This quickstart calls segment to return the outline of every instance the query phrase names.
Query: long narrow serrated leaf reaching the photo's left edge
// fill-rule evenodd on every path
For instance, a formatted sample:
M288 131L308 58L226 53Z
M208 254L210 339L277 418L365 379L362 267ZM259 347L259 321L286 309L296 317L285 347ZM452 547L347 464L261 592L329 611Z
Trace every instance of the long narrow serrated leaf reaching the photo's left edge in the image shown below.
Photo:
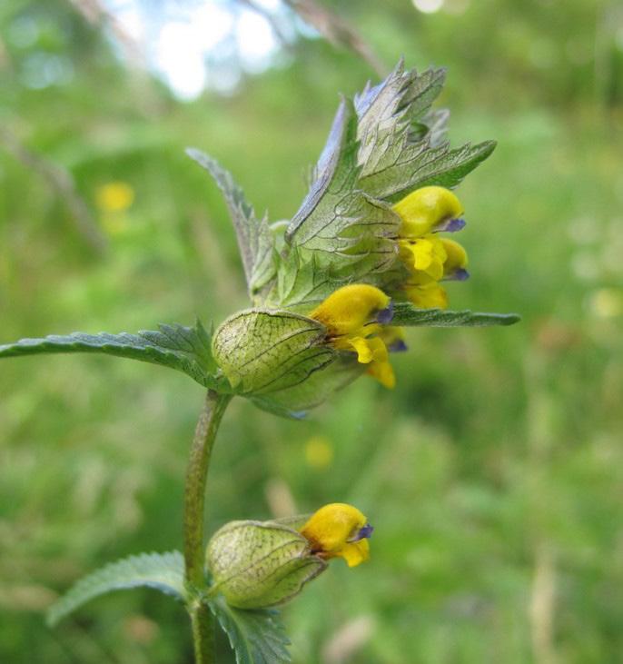
M0 345L0 358L59 352L99 352L161 364L186 373L204 387L219 390L223 387L214 375L217 366L212 356L210 334L199 321L194 327L178 323L159 325L157 332L73 332Z

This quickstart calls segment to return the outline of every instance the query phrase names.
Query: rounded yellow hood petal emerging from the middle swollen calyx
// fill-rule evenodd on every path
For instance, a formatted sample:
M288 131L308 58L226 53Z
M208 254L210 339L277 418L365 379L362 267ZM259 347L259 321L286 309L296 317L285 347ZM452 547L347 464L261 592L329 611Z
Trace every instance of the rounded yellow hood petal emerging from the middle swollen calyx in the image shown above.
M390 298L379 288L367 283L351 283L332 292L309 315L325 325L331 336L348 335L360 332L389 304Z

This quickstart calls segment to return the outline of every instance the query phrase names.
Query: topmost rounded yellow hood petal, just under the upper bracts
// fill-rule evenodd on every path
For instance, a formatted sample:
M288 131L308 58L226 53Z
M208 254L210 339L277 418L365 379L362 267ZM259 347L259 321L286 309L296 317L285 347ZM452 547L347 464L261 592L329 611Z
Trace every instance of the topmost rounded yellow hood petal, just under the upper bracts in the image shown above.
M443 187L422 187L393 206L401 217L401 237L421 237L440 223L460 217L463 206L457 196Z

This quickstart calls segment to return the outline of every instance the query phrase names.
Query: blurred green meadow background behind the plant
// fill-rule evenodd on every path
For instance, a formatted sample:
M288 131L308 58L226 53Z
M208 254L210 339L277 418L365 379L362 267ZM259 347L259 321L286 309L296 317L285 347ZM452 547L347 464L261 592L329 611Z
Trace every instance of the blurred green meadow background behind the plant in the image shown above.
M231 34L195 73L203 93L175 94L163 68L176 56L183 72L185 52L162 31L203 5L231 15ZM523 322L410 332L395 391L361 379L308 421L234 401L209 528L338 500L375 525L369 564L334 563L283 610L298 664L618 662L623 7L321 6L386 71L400 55L448 66L453 144L499 141L460 186L472 278L450 300ZM249 30L235 37L243 21L272 34L268 55ZM223 203L183 148L289 218L338 93L369 78L276 1L3 0L0 342L220 322L244 306ZM202 389L85 355L3 361L0 394L0 661L190 663L183 609L154 591L96 600L55 630L43 612L108 560L180 548Z

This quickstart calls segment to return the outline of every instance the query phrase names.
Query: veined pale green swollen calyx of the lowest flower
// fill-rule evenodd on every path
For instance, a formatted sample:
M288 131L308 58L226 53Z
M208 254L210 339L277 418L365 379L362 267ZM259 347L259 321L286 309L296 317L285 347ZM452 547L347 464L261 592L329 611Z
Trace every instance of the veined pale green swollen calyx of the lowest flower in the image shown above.
M326 569L299 532L276 521L232 521L206 553L213 588L232 607L261 609L292 599Z

